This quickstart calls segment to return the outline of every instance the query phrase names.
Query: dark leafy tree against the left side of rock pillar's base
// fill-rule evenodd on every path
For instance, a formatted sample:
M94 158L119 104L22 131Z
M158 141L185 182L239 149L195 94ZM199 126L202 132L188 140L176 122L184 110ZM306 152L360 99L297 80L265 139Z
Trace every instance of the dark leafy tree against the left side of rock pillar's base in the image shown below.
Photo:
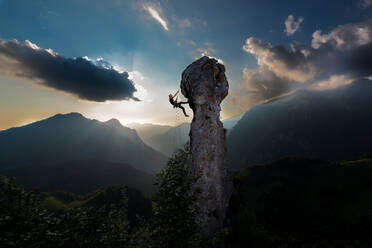
M196 190L187 177L187 149L178 150L158 174L152 237L157 247L198 247Z

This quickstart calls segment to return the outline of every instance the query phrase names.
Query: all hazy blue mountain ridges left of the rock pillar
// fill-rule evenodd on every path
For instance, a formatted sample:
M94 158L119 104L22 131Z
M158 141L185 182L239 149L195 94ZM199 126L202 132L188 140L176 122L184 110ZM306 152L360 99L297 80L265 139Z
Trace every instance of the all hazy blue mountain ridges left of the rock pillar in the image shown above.
M166 164L163 154L171 156L187 142L190 124L130 126L140 135L115 119L69 113L0 131L0 174L15 176L26 189L84 194L126 184L152 194L151 174Z

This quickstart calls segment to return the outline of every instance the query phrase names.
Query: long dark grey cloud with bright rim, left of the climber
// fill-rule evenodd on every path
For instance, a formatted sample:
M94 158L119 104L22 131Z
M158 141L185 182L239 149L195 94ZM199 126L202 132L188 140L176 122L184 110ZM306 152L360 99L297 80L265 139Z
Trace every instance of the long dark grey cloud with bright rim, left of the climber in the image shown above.
M28 40L0 39L0 74L27 79L82 100L139 100L133 95L136 88L128 73L115 70L102 58L65 58Z

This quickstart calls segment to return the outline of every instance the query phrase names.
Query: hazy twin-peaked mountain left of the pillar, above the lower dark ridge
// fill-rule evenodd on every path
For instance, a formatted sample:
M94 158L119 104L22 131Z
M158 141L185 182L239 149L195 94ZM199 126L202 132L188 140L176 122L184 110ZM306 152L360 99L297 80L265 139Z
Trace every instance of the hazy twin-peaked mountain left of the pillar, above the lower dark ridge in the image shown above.
M0 132L0 170L79 160L125 163L149 173L166 163L164 155L115 119L100 122L78 113L57 114Z

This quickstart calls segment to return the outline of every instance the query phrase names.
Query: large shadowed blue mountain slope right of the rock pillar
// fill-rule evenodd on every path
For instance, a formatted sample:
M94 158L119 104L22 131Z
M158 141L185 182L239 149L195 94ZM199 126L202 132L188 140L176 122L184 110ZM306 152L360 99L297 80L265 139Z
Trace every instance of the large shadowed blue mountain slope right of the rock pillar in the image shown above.
M326 160L372 151L372 82L302 90L247 111L228 136L231 167L285 156Z

